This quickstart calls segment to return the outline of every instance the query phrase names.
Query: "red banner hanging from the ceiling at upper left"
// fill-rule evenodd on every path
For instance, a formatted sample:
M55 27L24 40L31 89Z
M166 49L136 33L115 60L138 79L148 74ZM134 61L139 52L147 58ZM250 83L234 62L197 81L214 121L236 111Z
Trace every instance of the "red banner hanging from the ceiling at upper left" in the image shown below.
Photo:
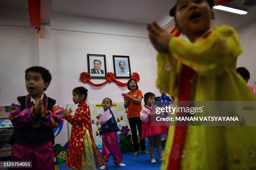
M41 0L28 0L28 12L30 24L37 29L39 34L41 29Z

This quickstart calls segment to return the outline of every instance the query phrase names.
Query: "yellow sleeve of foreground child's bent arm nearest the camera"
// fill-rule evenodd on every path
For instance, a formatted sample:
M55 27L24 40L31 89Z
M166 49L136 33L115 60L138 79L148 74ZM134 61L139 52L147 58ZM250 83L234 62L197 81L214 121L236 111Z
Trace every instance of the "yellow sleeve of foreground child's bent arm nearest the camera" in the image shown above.
M198 75L214 77L241 54L242 48L236 30L223 25L213 28L207 38L196 43L173 37L169 51L178 62L192 68Z

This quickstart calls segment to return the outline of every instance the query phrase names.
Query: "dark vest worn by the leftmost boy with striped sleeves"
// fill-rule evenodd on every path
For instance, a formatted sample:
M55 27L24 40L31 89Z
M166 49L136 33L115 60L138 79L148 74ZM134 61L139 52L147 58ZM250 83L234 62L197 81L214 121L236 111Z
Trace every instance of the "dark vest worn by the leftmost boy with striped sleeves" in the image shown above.
M17 100L21 104L20 111L27 108L27 96L20 96L17 98ZM46 101L46 110L51 110L52 107L55 105L56 100L47 97ZM11 136L9 143L12 145L15 143L15 141L23 143L42 143L51 140L54 144L55 136L53 130L44 125L43 123L41 123L40 127L33 128L32 122L23 127L14 128L13 135Z

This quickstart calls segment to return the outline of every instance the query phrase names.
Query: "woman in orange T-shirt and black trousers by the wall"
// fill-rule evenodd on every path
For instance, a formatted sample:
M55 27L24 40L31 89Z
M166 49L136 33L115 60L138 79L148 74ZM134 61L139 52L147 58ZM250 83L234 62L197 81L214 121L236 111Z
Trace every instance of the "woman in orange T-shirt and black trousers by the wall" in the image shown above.
M135 150L134 156L138 155L138 138L137 138L137 127L138 133L141 139L141 118L140 118L140 111L142 110L141 107L141 100L143 98L143 94L141 90L138 90L138 85L136 80L130 79L127 82L127 88L130 90L128 93L122 93L124 97L124 107L127 109L127 118L131 127L131 133L133 138L133 147ZM137 125L137 127L136 127ZM145 139L140 140L141 143L141 150L142 153L149 153L146 151L145 147Z

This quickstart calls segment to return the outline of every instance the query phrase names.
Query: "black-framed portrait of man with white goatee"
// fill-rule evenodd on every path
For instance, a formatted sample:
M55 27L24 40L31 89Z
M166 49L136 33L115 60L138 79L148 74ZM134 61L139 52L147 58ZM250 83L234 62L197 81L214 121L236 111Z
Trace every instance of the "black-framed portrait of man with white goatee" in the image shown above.
M113 65L116 78L131 78L129 56L113 55Z

